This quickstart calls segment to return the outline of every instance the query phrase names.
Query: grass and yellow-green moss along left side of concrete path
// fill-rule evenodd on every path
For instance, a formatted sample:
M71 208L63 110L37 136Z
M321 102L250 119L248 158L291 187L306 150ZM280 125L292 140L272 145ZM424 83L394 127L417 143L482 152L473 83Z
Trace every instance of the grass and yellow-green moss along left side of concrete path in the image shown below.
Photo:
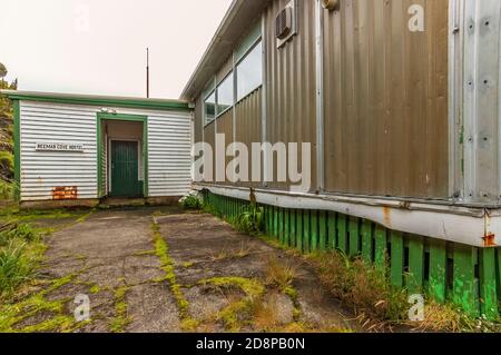
M16 332L72 332L84 326L72 315L66 315L66 304L71 299L48 300L47 295L72 283L78 274L50 282L37 279L37 269L43 260L47 246L45 237L86 220L92 211L37 210L9 208L0 211L6 221L0 236L0 333ZM78 218L77 218L78 217ZM28 223L47 219L71 219L58 228L32 227ZM45 287L40 290L40 287ZM22 323L47 313L51 316L35 325Z

